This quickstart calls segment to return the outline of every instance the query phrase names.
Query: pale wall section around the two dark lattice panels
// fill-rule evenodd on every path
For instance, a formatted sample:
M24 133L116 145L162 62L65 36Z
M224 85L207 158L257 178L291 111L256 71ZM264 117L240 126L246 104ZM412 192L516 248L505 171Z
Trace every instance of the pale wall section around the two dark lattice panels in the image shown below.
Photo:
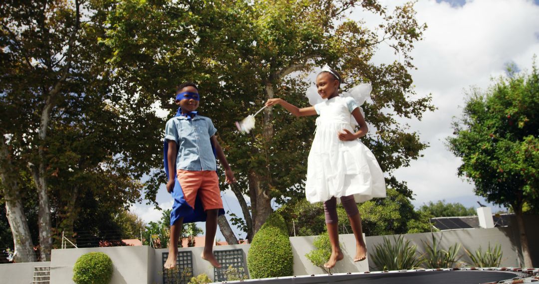
M249 251L250 247L251 247L250 244L214 246L213 251L236 250L237 248L240 248L241 250L243 250L243 253L244 253L243 258L245 261L244 269L248 275L247 252ZM210 277L210 279L213 280L213 266L211 266L210 262L205 261L200 257L203 250L204 250L204 247L178 248L179 252L182 252L182 251L192 252L194 276L198 274L206 273ZM153 262L150 264L154 276L153 276L152 282L149 282L149 283L163 284L163 260L162 260L163 252L168 252L168 248L157 248L154 252Z

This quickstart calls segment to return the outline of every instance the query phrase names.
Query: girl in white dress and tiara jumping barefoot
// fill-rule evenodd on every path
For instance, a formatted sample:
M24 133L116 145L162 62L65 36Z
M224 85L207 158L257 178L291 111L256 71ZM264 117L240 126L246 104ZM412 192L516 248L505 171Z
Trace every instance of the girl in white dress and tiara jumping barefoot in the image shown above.
M341 76L333 69L324 68L316 77L316 87L325 101L301 109L281 98L266 102L266 106L280 104L295 116L319 115L307 163L305 195L311 203L324 203L331 243L331 257L324 264L326 268L334 267L343 259L338 245L337 197L348 214L356 238L354 261L367 258L356 202L385 197L382 169L372 152L358 139L367 134L367 124L354 98L339 96L340 84ZM360 126L357 131L350 125L350 114Z

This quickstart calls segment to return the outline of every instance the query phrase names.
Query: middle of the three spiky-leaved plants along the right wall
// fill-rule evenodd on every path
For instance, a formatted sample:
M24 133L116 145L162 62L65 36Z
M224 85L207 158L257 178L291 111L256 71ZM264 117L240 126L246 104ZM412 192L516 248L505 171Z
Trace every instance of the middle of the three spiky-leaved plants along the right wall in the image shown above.
M460 255L457 255L460 250L460 244L455 243L448 250L441 250L439 245L443 235L438 240L432 234L432 242L427 243L421 240L425 248L425 267L426 268L452 268L459 261Z

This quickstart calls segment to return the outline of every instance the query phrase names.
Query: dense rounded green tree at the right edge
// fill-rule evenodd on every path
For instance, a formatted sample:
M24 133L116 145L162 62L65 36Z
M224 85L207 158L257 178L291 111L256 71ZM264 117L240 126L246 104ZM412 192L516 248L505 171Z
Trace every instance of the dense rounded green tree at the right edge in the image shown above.
M522 221L525 204L539 204L539 73L508 69L485 93L473 89L462 117L453 123L447 146L462 159L459 176L473 182L476 195L513 209L524 265L532 267Z

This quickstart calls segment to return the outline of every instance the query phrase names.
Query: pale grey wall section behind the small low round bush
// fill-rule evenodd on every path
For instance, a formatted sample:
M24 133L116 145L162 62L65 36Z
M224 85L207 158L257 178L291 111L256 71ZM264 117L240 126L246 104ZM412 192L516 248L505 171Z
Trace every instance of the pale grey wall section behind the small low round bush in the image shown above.
M68 248L52 250L51 283L74 283L72 279L75 261L88 252L103 252L112 259L113 284L151 283L154 278L150 269L155 261L154 249L149 246Z

